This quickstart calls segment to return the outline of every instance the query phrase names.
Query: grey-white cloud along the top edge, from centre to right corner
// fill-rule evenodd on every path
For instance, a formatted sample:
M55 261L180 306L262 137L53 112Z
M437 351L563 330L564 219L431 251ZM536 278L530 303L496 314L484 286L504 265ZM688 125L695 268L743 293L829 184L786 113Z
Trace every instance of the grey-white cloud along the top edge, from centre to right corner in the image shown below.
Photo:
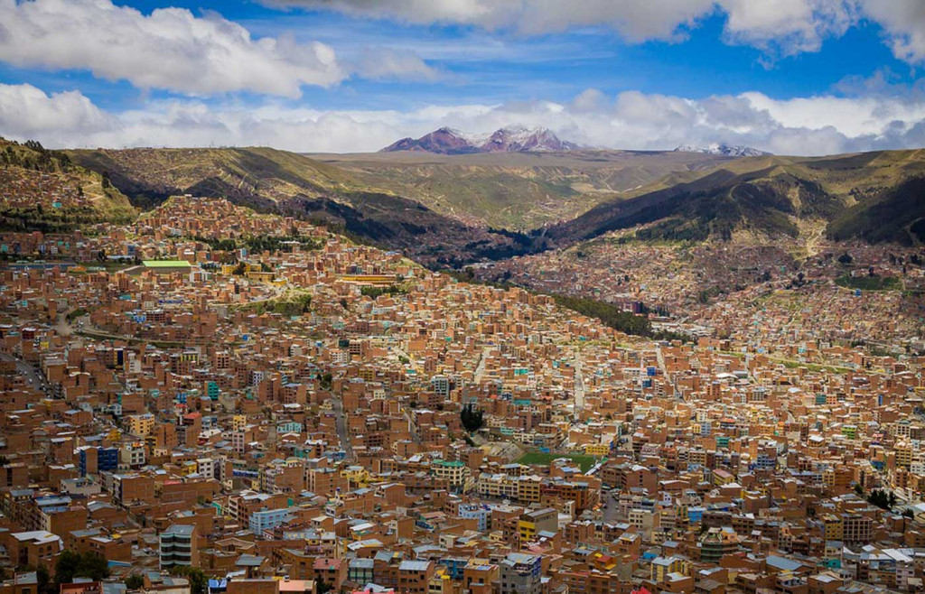
M727 42L759 47L771 57L815 52L830 37L867 18L880 24L897 58L925 62L921 0L264 0L269 6L335 10L413 24L458 23L524 35L603 26L629 42L676 41L721 11Z

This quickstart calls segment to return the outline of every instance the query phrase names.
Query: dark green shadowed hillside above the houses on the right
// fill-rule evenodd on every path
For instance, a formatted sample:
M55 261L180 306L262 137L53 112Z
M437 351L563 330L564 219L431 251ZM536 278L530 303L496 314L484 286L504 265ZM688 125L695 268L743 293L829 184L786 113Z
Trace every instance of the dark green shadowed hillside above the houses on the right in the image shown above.
M543 235L556 246L636 225L646 225L635 232L644 240L728 239L735 231L796 237L801 222L815 221L835 238L908 243L925 216L921 176L922 151L746 158L604 202Z

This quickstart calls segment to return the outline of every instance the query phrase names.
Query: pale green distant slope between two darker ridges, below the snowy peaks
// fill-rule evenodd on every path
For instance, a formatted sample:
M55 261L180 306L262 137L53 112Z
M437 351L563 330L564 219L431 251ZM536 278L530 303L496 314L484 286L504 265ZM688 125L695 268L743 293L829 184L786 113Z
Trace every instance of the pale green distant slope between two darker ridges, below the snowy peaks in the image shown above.
M635 196L667 175L697 177L728 158L692 152L430 152L316 154L371 188L470 224L525 230Z

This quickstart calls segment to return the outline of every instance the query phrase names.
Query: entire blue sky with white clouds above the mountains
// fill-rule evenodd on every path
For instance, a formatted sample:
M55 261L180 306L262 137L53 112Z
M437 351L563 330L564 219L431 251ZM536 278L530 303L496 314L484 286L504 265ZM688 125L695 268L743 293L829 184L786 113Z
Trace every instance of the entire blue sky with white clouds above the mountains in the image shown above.
M0 136L372 152L925 146L923 0L0 0Z

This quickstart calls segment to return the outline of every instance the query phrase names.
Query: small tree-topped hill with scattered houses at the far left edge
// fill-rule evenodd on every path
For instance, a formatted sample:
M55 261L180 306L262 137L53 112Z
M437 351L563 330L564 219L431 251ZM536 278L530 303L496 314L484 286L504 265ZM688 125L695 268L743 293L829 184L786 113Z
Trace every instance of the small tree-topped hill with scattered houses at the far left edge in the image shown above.
M38 142L0 139L0 229L61 232L134 218L129 200L105 176Z

